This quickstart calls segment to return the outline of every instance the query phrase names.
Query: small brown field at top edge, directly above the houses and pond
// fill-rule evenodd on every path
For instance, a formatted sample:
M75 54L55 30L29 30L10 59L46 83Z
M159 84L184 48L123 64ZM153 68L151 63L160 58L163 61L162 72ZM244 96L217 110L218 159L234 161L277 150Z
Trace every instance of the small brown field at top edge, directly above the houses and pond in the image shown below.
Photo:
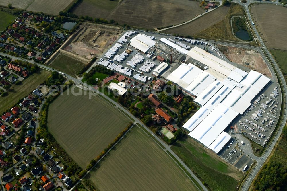
M63 11L72 1L73 0L34 0L26 10L58 15L59 12Z

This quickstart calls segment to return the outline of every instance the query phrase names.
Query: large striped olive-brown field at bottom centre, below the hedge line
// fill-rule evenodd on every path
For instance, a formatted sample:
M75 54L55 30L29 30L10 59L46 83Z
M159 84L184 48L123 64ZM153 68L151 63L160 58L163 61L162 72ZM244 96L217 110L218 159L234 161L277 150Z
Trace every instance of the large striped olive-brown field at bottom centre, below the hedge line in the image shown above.
M197 190L172 158L138 126L89 176L97 190Z

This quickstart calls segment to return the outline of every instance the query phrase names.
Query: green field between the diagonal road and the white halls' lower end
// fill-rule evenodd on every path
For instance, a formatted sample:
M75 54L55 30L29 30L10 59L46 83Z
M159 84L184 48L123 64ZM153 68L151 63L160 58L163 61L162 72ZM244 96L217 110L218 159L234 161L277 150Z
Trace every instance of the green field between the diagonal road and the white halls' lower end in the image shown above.
M204 181L210 190L235 190L243 174L189 137L171 146L172 151ZM218 181L224 180L224 181Z

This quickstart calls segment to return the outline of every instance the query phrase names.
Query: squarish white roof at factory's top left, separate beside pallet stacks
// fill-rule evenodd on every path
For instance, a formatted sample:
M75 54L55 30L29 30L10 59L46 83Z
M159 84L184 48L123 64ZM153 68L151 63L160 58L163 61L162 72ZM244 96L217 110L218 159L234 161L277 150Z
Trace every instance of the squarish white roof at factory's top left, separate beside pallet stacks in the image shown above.
M156 42L143 34L138 34L131 39L130 45L139 49L142 52L148 51Z

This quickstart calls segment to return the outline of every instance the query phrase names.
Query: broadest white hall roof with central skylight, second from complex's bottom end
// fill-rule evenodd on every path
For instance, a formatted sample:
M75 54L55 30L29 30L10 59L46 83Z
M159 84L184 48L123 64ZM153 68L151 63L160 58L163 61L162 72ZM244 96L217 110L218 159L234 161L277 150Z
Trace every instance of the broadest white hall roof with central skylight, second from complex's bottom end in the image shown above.
M189 133L189 136L209 147L237 115L237 112L220 103Z

